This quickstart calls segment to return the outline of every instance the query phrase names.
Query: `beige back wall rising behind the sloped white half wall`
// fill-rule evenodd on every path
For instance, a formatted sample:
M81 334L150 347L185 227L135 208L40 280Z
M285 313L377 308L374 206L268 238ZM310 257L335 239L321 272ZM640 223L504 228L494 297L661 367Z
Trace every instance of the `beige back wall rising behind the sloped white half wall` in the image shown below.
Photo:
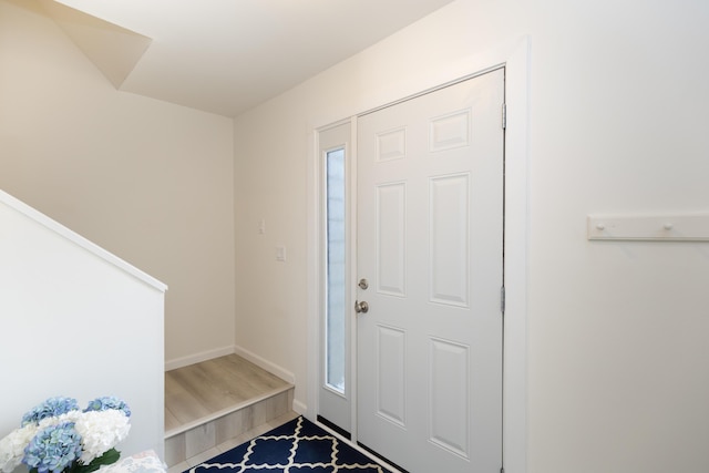
M233 121L117 92L33 4L0 1L0 188L169 286L167 361L232 349Z

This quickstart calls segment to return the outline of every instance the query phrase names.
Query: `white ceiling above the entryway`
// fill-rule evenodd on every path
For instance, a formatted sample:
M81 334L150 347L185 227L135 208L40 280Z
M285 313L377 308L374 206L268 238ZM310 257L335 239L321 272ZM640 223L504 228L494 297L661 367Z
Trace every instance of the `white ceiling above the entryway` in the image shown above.
M138 52L116 81L85 48L96 44L92 33L84 40L121 90L236 116L452 0L55 1L145 41L125 47Z

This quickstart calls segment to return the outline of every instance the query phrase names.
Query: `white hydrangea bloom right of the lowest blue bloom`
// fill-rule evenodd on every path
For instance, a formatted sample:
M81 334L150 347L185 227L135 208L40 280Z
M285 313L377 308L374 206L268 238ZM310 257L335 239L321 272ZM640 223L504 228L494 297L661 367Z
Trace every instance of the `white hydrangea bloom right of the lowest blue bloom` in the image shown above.
M81 435L81 462L91 463L123 441L131 430L130 419L115 409L83 412L74 429Z

